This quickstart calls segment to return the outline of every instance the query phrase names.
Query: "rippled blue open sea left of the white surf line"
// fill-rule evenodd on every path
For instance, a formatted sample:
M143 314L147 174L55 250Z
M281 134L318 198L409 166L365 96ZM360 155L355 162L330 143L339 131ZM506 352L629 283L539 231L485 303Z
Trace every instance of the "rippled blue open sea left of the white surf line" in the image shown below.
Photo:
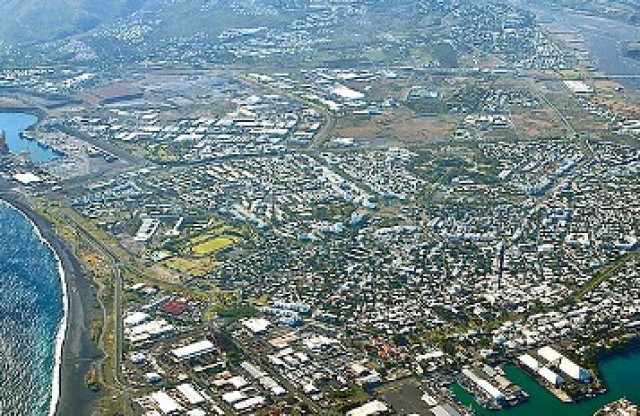
M0 201L0 415L47 415L62 296L54 253Z

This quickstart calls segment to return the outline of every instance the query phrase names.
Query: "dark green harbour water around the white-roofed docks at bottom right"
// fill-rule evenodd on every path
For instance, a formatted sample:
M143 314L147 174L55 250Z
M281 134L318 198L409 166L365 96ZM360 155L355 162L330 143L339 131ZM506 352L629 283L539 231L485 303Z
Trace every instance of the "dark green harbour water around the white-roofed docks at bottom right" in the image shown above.
M606 394L578 404L562 403L538 382L514 365L506 365L509 380L529 394L529 401L511 409L491 411L479 406L473 397L457 384L451 389L460 402L471 405L482 416L591 416L605 404L627 397L640 403L640 353L619 355L600 363L600 372L608 387Z

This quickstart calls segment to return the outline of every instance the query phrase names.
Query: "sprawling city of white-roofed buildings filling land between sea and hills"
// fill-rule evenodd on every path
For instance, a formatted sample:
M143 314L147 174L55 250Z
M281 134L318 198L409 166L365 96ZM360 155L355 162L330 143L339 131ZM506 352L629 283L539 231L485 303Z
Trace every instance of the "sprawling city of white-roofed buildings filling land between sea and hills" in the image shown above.
M188 3L158 12L197 3L181 35L0 43L0 108L52 154L3 133L0 187L92 278L95 414L470 415L451 386L529 400L505 366L606 391L638 348L640 73L521 2Z

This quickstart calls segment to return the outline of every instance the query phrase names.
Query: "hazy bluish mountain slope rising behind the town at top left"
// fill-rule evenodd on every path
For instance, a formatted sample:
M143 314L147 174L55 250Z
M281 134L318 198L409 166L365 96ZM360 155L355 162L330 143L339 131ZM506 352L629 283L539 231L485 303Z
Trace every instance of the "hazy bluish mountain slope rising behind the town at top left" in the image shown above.
M308 0L4 0L0 44L50 42L140 24L155 24L154 35L189 37L286 23L287 10L301 4Z

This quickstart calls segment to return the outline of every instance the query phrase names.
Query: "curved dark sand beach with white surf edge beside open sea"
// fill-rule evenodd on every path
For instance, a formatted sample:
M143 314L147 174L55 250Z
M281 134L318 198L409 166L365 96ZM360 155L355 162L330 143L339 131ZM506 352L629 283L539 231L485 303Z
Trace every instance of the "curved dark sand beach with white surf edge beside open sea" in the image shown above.
M95 314L87 305L92 295L92 285L70 247L56 234L46 218L3 186L0 186L0 203L16 209L29 221L58 263L63 316L56 333L47 416L90 414L99 394L87 388L85 375L102 356L102 352L89 339L89 325Z

